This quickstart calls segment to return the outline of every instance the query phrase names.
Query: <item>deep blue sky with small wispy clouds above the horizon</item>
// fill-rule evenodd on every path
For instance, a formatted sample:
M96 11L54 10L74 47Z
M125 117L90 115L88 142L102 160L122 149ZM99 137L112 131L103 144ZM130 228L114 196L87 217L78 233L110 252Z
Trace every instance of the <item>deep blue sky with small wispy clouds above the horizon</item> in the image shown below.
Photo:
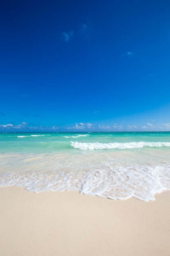
M170 131L170 1L2 1L0 132L29 131Z

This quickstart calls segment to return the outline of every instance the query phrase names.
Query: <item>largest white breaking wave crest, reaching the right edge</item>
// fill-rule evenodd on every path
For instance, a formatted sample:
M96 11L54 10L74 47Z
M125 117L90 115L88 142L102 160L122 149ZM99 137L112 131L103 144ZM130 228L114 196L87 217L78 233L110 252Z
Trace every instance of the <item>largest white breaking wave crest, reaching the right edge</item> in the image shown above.
M93 150L93 149L126 149L126 148L143 148L143 147L170 147L170 142L124 142L124 143L87 143L87 142L77 142L71 141L71 146L73 148L78 148L80 150Z

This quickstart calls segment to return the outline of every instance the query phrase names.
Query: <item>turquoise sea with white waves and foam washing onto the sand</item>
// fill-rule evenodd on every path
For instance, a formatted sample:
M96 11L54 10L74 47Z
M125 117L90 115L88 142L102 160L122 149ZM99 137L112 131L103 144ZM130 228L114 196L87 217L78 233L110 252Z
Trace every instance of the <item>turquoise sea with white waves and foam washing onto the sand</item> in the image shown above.
M0 133L0 186L155 200L170 190L170 132Z

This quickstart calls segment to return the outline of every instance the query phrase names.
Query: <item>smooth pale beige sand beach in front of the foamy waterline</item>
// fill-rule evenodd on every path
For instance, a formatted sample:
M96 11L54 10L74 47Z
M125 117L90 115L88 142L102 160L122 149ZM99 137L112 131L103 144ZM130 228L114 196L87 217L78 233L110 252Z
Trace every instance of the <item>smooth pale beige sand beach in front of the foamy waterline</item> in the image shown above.
M170 191L156 200L0 188L2 256L170 255Z

